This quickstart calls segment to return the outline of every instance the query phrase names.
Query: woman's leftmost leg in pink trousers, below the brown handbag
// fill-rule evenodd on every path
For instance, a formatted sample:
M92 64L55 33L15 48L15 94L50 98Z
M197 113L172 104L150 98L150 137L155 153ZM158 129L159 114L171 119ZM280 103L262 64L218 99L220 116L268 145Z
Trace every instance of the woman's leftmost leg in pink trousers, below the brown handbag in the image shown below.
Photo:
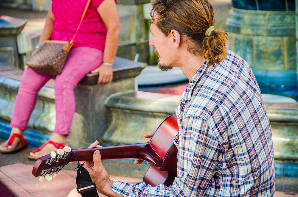
M40 75L31 68L24 71L10 122L10 126L13 127L11 134L17 133L24 137L23 131L26 130L30 115L35 107L37 92L51 77L50 75ZM1 150L15 148L20 139L15 137L13 143L8 147L5 146L7 142L0 145Z

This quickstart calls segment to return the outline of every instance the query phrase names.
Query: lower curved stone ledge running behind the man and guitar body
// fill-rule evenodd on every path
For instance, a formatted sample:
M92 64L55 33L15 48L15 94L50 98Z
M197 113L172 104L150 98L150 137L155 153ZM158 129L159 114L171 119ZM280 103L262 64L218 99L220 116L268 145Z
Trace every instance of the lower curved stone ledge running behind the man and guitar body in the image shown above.
M103 140L109 144L139 143L143 134L175 113L179 95L128 91L109 96L105 106L111 123ZM273 135L274 158L298 160L298 103L265 103Z

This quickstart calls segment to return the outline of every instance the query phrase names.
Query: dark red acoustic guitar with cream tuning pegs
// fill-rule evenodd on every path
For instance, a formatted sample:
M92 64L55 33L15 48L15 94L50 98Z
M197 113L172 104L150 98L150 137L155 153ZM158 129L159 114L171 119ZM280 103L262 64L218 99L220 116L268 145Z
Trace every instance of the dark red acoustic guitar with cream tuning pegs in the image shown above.
M149 143L73 150L64 147L64 150L58 149L40 157L33 166L32 174L42 176L40 181L51 180L69 162L91 161L94 151L100 150L102 160L133 158L150 162L143 181L152 186L170 186L177 176L177 148L173 140L178 131L177 116L171 115L159 125Z

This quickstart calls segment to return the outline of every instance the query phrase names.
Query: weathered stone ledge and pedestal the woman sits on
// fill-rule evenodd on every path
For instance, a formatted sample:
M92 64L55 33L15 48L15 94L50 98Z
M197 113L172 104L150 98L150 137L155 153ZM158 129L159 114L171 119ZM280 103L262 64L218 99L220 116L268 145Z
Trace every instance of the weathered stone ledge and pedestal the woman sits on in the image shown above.
M111 85L97 85L98 74L85 77L86 83L81 82L75 88L76 111L72 122L71 134L68 138L70 146L86 147L94 140L102 142L102 135L109 123L109 113L104 107L105 99L116 92L137 90L136 76L146 64L123 58L116 58L113 69L115 79ZM23 70L12 66L0 67L0 119L10 122L15 98L20 85ZM27 140L32 144L42 144L48 140L55 126L55 93L54 79L50 79L38 92L35 109L28 123ZM7 130L7 129L6 129ZM40 136L35 137L34 132ZM1 131L1 135L7 135ZM1 136L0 135L0 136Z

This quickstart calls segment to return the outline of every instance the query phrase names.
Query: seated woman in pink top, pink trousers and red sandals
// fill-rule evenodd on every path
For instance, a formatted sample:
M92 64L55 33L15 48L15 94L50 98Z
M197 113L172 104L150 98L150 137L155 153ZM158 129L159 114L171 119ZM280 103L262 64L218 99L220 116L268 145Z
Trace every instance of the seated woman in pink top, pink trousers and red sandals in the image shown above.
M52 0L39 44L49 35L52 40L70 41L86 3L87 0ZM55 79L55 129L47 143L28 155L30 159L37 160L67 145L66 138L75 113L74 88L86 74L98 72L98 84L111 84L119 30L116 0L91 0L63 71ZM12 130L8 140L0 145L1 153L16 152L27 145L24 131L35 107L37 92L52 77L37 74L31 68L25 69L10 123Z

